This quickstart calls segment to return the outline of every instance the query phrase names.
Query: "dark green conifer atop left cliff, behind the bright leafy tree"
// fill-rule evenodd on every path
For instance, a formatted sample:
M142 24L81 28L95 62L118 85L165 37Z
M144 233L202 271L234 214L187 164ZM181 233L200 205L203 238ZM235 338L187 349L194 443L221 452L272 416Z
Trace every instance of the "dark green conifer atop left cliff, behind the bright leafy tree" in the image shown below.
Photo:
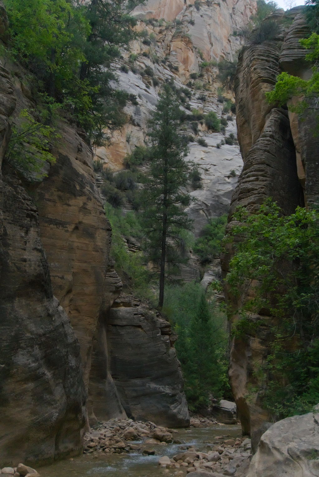
M120 57L120 50L128 48L135 37L136 20L129 15L129 10L137 3L91 0L86 4L85 19L90 25L90 33L83 47L85 61L81 64L79 79L88 85L92 98L91 114L82 118L82 123L91 131L95 144L109 139L127 120L122 109L128 94L114 88L112 82L117 82L115 61ZM81 105L74 104L74 111L81 118Z

